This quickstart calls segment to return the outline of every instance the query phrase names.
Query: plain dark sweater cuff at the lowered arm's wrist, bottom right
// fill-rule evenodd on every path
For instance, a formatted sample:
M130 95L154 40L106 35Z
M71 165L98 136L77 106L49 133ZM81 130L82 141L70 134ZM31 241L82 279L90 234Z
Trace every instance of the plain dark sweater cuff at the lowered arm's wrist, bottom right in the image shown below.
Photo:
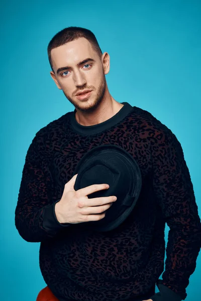
M150 297L153 301L181 301L181 296L163 284L157 284L159 292Z

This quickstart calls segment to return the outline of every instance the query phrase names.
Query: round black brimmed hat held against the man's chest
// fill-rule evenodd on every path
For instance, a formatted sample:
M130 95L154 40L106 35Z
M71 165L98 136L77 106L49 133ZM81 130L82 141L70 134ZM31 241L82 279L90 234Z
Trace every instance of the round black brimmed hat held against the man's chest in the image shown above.
M76 174L75 191L93 184L110 185L109 189L89 194L89 199L117 197L117 201L105 211L104 218L86 224L103 232L122 224L135 207L142 186L140 168L134 158L118 145L95 146L81 158L73 176Z

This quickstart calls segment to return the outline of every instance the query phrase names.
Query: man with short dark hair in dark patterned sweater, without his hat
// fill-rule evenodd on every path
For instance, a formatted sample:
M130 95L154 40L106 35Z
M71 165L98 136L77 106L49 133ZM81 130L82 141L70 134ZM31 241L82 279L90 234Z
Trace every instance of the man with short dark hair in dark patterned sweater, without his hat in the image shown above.
M36 133L23 169L16 227L25 240L41 242L47 286L37 300L185 299L201 224L179 141L149 112L111 96L105 77L110 57L91 31L60 31L48 45L48 57L51 77L75 110ZM107 183L75 191L77 175L72 177L82 156L100 143L127 150L142 174L137 206L119 227L103 233L85 225L103 219L114 196L87 195L107 189ZM158 279L165 222L167 259Z

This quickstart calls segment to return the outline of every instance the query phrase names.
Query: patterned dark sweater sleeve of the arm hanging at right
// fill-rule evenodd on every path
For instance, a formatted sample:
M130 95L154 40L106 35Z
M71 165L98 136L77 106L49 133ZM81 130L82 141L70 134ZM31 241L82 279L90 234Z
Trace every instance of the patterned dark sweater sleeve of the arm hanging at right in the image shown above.
M150 141L153 189L169 227L165 270L157 285L165 285L185 299L185 288L201 246L201 224L193 186L176 136L171 131L159 132Z

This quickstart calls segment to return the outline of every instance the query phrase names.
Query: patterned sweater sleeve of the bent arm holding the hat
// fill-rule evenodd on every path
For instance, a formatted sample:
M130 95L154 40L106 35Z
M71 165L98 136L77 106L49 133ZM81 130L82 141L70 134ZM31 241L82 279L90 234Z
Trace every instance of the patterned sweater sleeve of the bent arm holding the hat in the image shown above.
M22 172L21 185L15 210L15 224L19 234L29 242L41 242L54 237L61 224L55 215L52 199L52 177L45 158L43 137L39 132L30 144Z

